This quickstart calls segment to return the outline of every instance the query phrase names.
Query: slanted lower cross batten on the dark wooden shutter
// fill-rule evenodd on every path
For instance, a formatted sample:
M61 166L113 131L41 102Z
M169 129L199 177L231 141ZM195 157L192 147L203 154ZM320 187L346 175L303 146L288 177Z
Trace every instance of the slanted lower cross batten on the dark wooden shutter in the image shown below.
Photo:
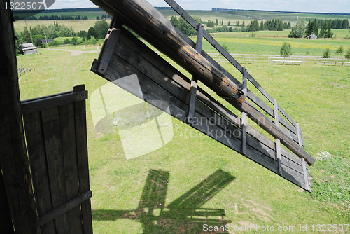
M69 200L69 202L66 202L63 205L60 205L59 207L53 209L51 212L44 214L43 216L39 217L40 226L45 225L45 223L48 223L53 219L57 219L57 217L66 212L69 212L76 207L79 208L80 203L84 202L85 200L89 200L91 197L92 191L86 191L85 193L78 195L76 198Z

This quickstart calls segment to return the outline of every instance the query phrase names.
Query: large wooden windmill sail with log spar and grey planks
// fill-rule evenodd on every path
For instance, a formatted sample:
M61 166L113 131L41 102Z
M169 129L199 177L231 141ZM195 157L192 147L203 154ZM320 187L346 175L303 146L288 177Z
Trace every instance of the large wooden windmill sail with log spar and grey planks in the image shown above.
M311 192L308 165L313 165L315 160L302 148L304 139L299 125L279 106L276 99L273 99L251 74L175 1L166 0L197 29L197 43L174 27L145 0L92 1L113 16L102 52L92 64L92 71L109 81L116 81L125 76L137 76L146 102L159 109L163 107L158 106L159 102L153 101L166 102L175 118ZM125 27L132 29L190 72L191 80ZM202 50L202 37L241 72L241 82ZM204 83L241 111L241 118L200 88L197 81ZM248 81L264 95L267 102L274 105L274 109L248 90ZM120 86L134 92L130 85ZM247 118L251 118L272 135L275 141L248 125ZM288 150L281 147L281 144Z

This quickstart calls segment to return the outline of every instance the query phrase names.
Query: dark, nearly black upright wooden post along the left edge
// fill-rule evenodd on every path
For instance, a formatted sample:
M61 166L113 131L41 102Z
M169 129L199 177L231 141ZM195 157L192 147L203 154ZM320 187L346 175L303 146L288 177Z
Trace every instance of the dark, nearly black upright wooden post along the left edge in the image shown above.
M16 233L40 233L20 113L13 16L6 3L0 1L0 184L5 188L1 189L1 207L5 208L1 212L6 215L0 232L13 233L15 228Z

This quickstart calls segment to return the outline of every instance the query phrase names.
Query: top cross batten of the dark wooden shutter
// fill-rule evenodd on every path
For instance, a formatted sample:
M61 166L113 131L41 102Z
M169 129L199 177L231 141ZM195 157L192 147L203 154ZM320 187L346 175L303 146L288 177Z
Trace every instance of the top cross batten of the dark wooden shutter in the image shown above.
M64 104L78 102L85 99L87 99L86 90L81 92L62 92L57 95L28 99L21 102L22 114L30 113L33 111L40 111L42 109L51 108L54 106L61 106Z

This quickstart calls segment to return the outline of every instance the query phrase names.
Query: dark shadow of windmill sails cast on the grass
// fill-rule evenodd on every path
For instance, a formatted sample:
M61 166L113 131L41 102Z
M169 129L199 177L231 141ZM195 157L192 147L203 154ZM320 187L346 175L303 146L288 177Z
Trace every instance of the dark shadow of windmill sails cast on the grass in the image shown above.
M169 172L150 170L142 192L139 207L135 210L97 209L94 220L131 219L142 223L143 233L215 233L203 230L203 225L223 227L224 209L201 208L235 177L217 170L190 191L165 206ZM228 233L223 228L220 233Z

